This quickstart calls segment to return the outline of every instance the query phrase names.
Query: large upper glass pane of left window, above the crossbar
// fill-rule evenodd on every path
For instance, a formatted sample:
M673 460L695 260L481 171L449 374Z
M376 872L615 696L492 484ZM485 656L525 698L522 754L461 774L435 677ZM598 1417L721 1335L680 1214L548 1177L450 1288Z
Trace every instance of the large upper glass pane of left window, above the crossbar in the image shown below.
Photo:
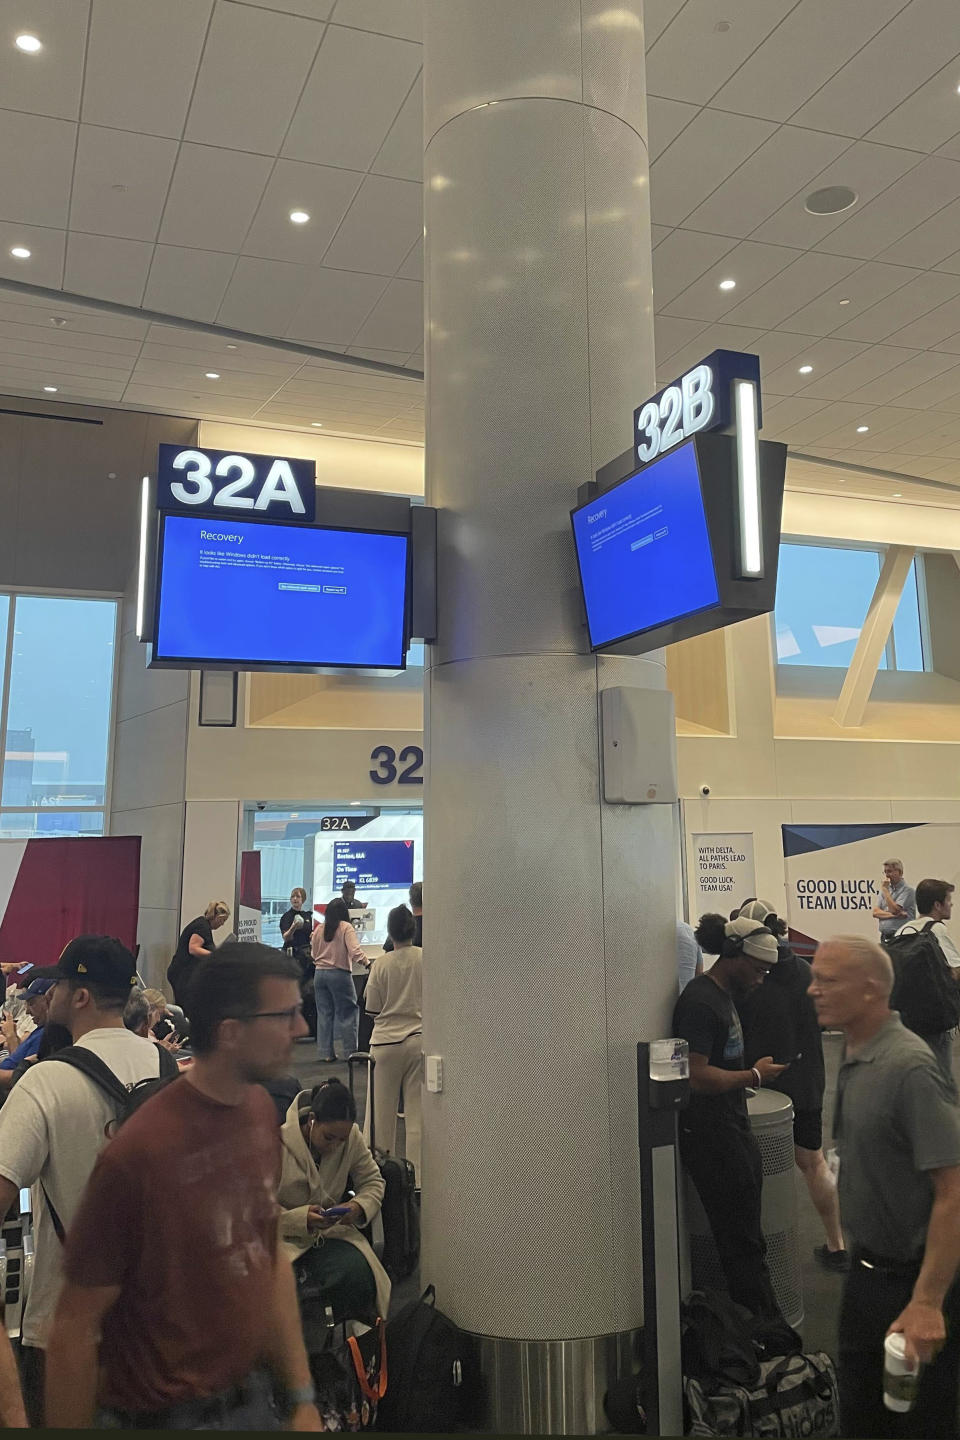
M17 598L4 805L102 805L115 600Z

